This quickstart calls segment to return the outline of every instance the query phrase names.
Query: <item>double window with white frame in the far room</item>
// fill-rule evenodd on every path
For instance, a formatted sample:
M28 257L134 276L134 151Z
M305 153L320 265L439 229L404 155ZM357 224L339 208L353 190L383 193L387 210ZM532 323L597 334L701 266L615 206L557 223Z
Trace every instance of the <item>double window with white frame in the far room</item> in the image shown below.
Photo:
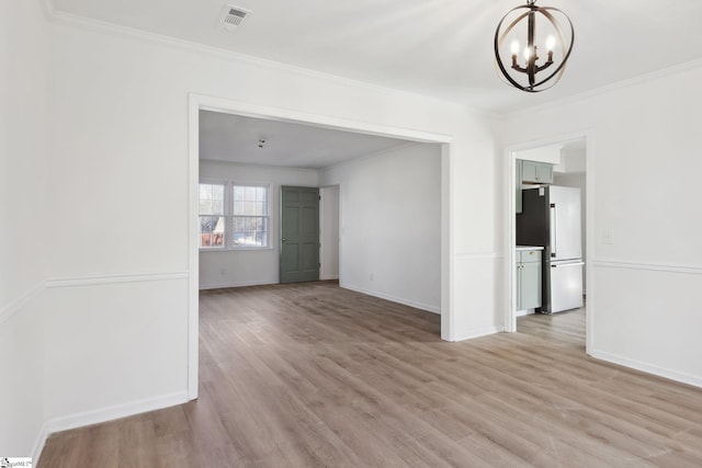
M231 182L200 184L200 248L269 246L269 187Z

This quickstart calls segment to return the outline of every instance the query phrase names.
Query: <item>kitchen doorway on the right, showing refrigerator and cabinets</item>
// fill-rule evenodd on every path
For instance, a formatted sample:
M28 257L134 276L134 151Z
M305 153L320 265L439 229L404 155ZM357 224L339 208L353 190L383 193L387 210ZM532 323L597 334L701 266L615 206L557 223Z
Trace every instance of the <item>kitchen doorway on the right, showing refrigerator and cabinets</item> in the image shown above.
M508 148L506 219L505 331L516 332L521 316L584 312L587 297L586 352L595 315L589 140L578 134Z

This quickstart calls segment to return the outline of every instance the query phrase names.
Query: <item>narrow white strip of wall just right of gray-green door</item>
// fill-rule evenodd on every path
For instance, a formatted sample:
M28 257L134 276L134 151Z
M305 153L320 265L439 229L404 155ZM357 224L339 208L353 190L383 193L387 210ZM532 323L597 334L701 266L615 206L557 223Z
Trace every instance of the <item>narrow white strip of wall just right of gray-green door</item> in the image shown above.
M326 186L319 189L321 196L319 243L320 279L339 279L339 186Z

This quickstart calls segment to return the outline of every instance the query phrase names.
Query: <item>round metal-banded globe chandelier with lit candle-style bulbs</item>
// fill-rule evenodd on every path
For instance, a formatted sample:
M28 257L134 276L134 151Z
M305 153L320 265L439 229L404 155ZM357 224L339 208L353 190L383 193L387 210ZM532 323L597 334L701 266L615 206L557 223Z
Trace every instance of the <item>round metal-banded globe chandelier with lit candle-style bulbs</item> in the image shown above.
M534 3L526 0L525 5L510 10L495 31L495 60L501 76L526 92L547 90L561 80L575 38L564 12ZM546 50L544 60L539 56L541 47Z

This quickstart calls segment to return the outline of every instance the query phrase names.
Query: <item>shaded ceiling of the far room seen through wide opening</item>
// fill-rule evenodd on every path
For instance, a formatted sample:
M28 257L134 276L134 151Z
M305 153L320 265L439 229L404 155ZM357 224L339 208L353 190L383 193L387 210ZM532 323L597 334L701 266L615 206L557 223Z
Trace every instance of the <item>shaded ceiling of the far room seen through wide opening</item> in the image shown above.
M322 169L407 144L404 139L200 111L200 159Z

